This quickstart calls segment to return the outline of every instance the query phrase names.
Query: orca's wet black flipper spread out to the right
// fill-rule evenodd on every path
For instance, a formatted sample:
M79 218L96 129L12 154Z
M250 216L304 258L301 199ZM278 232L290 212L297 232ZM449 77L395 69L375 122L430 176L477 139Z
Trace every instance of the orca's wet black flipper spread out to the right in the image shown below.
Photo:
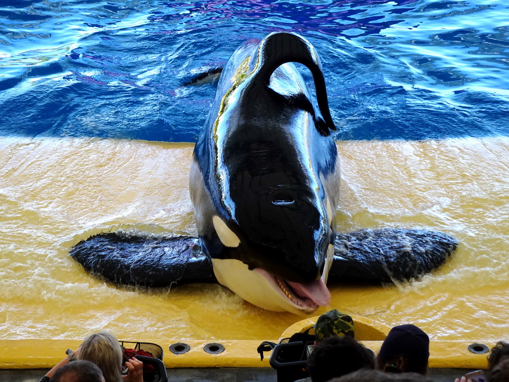
M426 230L363 229L336 234L329 280L418 279L442 265L457 245L448 234Z

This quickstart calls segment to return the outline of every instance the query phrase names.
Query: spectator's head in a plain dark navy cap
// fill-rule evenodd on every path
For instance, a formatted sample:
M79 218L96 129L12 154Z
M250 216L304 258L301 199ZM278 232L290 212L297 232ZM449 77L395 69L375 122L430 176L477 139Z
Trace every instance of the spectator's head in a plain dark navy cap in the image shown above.
M430 339L415 325L394 326L377 356L378 369L392 373L413 372L426 375Z

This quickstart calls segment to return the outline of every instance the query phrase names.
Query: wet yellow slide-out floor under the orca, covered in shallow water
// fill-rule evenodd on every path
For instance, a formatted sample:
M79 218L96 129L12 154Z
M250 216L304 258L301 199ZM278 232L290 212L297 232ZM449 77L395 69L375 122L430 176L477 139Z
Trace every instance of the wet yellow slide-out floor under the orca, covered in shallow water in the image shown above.
M432 275L397 286L330 285L336 308L432 340L509 335L509 139L338 143L338 231L401 227L460 241ZM268 312L219 285L136 290L86 274L69 249L119 227L194 233L190 144L0 139L0 337L274 340L305 317Z

